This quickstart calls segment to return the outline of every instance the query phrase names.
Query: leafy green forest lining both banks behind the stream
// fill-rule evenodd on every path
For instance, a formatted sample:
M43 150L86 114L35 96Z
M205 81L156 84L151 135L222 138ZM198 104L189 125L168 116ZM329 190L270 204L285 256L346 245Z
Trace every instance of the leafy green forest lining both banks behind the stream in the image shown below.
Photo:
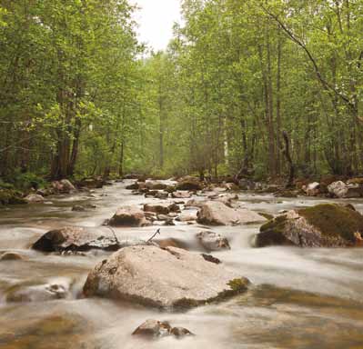
M126 0L2 0L0 175L363 166L363 3L185 0L163 52Z

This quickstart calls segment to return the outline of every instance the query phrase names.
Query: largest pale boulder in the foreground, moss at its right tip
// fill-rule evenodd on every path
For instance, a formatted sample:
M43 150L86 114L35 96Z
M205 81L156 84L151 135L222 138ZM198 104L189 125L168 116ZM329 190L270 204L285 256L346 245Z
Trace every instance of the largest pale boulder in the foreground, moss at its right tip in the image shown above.
M156 307L191 307L247 290L248 280L202 255L156 246L126 247L96 265L86 296L103 296Z

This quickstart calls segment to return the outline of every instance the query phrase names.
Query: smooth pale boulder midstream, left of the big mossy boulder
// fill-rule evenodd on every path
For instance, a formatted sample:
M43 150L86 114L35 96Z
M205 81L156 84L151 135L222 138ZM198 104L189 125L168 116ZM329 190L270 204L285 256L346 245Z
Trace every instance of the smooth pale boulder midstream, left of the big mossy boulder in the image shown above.
M207 225L232 225L265 222L266 218L246 208L231 208L219 201L202 204L197 222Z

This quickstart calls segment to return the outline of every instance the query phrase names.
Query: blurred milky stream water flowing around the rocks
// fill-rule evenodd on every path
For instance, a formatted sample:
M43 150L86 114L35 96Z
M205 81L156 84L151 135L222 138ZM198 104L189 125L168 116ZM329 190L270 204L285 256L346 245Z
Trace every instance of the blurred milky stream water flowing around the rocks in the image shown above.
M0 210L0 253L16 252L21 261L0 262L1 349L131 349L131 348L363 348L363 250L252 248L257 225L213 228L226 236L231 250L214 253L223 264L247 276L253 286L227 302L201 306L185 313L166 313L136 304L85 299L86 275L105 253L62 256L30 249L50 228L65 225L105 230L101 224L122 204L156 202L133 195L125 184L89 194L50 197L45 204ZM279 199L271 195L240 194L241 204L257 212L324 202ZM349 200L363 212L363 201ZM74 204L96 204L95 210L72 212ZM150 237L156 226L116 229L119 238ZM161 228L190 250L199 249L197 224ZM66 299L48 302L6 302L16 287L70 284ZM167 320L194 334L144 341L132 336L148 318Z

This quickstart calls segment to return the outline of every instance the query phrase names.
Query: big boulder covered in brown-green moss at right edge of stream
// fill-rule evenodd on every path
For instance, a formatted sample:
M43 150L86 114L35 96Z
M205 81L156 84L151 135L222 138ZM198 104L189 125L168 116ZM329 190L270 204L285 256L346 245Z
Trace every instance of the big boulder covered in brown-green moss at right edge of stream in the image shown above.
M342 247L363 244L363 215L351 206L318 204L288 211L264 224L258 247L280 244L301 247Z

